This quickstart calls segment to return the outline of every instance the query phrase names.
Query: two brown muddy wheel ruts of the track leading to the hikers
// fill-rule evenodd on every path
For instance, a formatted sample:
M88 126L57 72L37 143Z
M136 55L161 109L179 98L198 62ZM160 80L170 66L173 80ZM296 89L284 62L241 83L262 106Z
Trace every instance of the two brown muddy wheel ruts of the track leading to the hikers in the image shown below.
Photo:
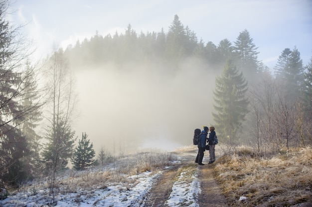
M177 153L177 155L180 157L181 162L164 170L147 195L144 206L166 207L165 202L169 198L180 169L191 166L192 168L198 168L198 179L200 181L201 192L196 199L196 206L228 207L218 183L213 178L213 165L215 164L199 166L194 163L196 153Z

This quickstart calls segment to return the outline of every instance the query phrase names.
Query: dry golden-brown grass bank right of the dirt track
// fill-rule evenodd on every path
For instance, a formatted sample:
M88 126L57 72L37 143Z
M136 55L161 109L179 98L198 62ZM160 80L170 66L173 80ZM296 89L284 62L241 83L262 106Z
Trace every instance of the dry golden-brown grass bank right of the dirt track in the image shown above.
M215 176L228 202L240 207L312 202L311 172L311 148L266 158L243 147L215 164ZM247 197L245 202L239 201L242 196Z

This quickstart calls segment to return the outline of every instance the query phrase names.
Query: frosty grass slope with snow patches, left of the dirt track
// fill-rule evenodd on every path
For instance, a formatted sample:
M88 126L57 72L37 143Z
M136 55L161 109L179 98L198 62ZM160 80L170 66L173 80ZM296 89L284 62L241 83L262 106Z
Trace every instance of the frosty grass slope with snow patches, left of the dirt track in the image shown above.
M68 171L59 177L54 196L42 179L11 192L0 201L0 207L140 207L161 169L174 161L170 154L145 153L144 157L149 159L139 163L140 167L138 156L128 156L88 171Z

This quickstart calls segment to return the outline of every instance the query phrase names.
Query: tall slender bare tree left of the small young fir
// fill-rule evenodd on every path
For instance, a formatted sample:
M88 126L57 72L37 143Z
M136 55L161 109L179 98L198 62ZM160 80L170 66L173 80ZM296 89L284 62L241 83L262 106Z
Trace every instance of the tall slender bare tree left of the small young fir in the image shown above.
M75 132L71 129L76 95L74 80L62 49L55 51L47 60L47 90L51 95L47 104L49 122L43 151L46 172L49 172L50 190L57 186L55 178L64 169L72 155Z

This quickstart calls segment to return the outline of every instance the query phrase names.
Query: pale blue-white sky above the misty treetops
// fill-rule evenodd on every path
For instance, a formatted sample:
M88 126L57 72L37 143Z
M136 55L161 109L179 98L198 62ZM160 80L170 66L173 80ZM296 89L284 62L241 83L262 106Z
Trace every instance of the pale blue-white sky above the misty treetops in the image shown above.
M177 14L198 40L218 45L236 41L247 29L258 59L273 68L285 48L297 46L304 65L312 57L312 0L16 0L9 16L34 41L35 57L53 45L64 48L79 39L124 33L128 24L140 34L165 32Z

